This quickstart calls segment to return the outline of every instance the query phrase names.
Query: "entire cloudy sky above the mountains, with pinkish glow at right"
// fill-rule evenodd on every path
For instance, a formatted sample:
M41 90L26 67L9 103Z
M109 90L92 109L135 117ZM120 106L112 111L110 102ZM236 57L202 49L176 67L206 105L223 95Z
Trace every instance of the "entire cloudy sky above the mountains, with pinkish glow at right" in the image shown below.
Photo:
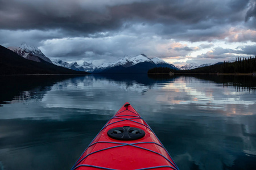
M0 0L0 45L98 65L146 54L175 65L256 55L256 0Z

